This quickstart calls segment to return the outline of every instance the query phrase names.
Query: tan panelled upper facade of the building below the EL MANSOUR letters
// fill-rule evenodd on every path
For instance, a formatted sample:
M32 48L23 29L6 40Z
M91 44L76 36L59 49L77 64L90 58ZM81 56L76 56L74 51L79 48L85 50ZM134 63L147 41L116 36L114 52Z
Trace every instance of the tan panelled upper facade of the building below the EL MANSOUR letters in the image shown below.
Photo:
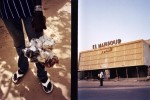
M80 53L79 71L150 65L150 48L137 40Z

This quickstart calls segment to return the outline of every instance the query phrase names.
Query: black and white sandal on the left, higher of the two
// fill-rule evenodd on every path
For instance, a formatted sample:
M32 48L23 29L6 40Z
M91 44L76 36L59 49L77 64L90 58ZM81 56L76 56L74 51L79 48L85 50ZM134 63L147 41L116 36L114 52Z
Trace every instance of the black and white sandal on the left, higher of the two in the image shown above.
M13 76L12 76L12 82L17 84L19 80L24 76L24 74L18 70Z

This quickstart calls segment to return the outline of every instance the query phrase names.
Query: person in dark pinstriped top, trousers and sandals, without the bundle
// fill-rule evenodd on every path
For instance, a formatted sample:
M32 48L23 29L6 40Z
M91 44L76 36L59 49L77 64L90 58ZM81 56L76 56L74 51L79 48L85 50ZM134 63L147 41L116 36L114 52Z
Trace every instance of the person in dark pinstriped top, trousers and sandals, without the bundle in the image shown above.
M39 38L46 29L46 19L42 11L42 0L0 0L0 17L13 39L18 58L18 70L12 76L12 82L18 84L29 69L28 58L22 52L25 46L23 25L29 41ZM37 76L46 93L53 90L53 84L47 76L45 66L35 63Z

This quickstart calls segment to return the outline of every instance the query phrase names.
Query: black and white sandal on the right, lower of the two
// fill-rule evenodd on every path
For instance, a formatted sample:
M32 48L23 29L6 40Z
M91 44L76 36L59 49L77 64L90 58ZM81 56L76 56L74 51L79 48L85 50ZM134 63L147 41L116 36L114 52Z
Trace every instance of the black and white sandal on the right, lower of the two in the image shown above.
M53 84L51 83L51 81L49 79L46 80L46 82L41 81L42 86L43 86L43 90L46 93L50 93L53 90Z

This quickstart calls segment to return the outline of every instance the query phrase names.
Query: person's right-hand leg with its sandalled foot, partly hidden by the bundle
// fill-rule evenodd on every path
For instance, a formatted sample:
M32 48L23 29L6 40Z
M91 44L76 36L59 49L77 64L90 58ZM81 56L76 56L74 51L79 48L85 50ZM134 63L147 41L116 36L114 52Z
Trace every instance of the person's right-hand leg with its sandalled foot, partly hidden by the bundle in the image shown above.
M29 38L29 41L33 38L39 38L43 35L43 32L41 33L35 33L34 29L32 28L32 18L25 18L23 19L25 30L27 33L27 36ZM47 71L45 71L45 66L41 64L40 62L35 63L37 67L37 76L39 80L42 83L43 89L46 93L50 93L53 89L53 85L51 84L50 80L47 76Z

